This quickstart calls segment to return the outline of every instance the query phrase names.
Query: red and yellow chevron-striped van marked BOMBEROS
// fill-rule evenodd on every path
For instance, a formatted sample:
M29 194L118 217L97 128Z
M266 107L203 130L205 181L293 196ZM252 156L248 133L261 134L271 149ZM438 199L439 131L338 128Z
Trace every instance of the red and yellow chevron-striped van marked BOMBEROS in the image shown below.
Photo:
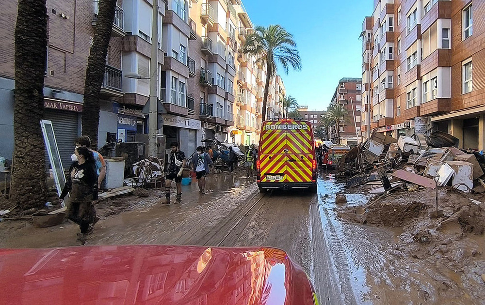
M260 192L317 190L317 160L311 123L298 119L264 121L256 163Z

